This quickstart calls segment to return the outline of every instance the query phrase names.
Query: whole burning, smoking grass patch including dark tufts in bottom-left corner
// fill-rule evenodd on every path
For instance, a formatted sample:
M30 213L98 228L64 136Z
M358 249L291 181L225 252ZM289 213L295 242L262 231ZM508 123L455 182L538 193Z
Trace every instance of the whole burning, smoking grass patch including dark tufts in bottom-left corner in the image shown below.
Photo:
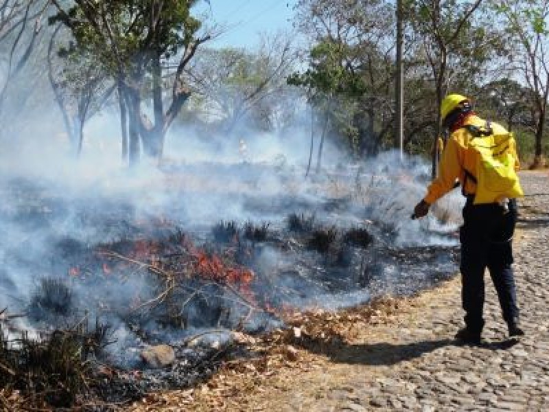
M196 220L188 216L209 203L193 194L180 207L185 196L174 195L167 203L176 209L143 210L132 199L70 203L26 181L8 186L18 207L0 211L20 233L1 250L0 287L16 299L0 302L11 311L0 316L0 402L109 410L149 391L194 387L256 356L248 340L285 336L272 331L291 331L299 313L410 295L452 275L452 235L427 227L422 236L441 244L399 243L406 227L394 216L406 209L378 198L393 183L364 181L340 198L251 189L235 206L235 194L209 194L215 218ZM221 202L246 214L221 216ZM307 336L284 344L312 348Z

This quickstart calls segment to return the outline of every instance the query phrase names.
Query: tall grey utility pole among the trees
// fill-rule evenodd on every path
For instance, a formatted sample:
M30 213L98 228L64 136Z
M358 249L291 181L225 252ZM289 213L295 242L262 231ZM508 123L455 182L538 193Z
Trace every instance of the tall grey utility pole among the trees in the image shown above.
M397 57L395 79L395 146L400 149L400 159L404 158L404 65L402 46L404 44L402 0L397 0Z

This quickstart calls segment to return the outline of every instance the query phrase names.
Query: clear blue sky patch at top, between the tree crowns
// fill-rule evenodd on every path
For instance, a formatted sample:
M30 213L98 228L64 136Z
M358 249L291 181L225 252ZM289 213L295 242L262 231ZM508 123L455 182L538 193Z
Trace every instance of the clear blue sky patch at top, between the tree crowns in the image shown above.
M210 3L211 7L208 5ZM211 47L254 47L259 34L291 30L296 0L202 0L195 14L205 13L227 30Z

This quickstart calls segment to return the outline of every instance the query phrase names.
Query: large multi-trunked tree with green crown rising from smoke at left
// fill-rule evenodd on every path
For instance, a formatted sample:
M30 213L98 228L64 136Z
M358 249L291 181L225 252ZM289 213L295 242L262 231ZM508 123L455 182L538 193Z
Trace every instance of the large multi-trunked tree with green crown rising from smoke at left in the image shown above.
M196 0L52 0L75 38L75 49L93 56L117 84L121 126L128 115L130 164L141 146L161 159L165 134L191 95L185 68L210 36L197 36L200 22L190 14ZM171 86L169 86L171 84ZM171 93L164 93L169 87ZM152 100L152 120L143 108ZM124 146L124 142L123 142Z

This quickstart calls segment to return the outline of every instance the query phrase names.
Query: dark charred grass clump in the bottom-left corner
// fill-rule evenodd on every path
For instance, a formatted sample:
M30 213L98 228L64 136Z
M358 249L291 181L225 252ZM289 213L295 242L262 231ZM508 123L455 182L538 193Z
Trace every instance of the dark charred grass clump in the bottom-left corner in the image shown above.
M18 393L16 398L25 399L25 408L74 407L91 396L90 359L111 343L109 331L99 322L93 330L82 323L32 339L27 332L14 337L0 324L1 393Z

